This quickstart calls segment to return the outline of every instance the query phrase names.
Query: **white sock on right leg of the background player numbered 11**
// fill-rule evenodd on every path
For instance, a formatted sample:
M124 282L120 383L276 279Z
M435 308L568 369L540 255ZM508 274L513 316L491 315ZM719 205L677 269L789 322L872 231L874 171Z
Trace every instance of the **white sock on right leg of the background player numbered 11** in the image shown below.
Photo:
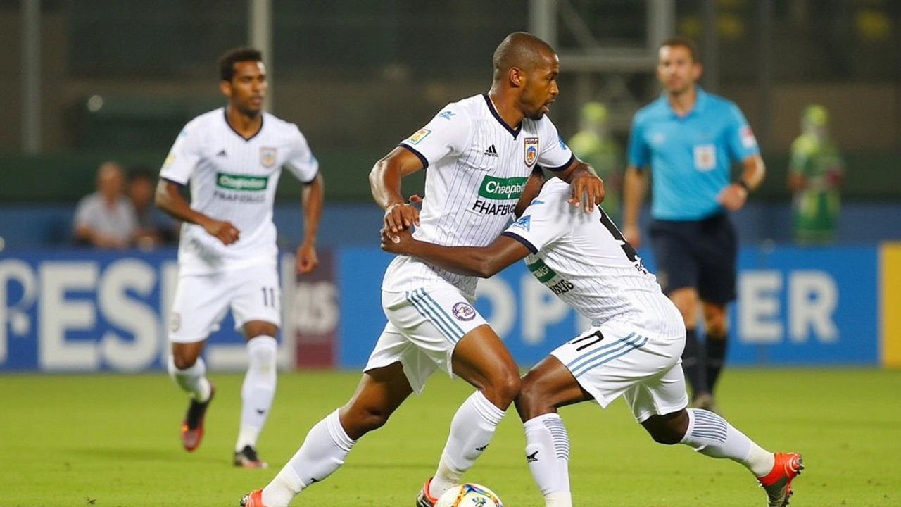
M278 342L272 336L256 336L247 342L250 364L241 385L241 430L234 450L257 447L259 430L266 424L272 398L276 393L276 352Z

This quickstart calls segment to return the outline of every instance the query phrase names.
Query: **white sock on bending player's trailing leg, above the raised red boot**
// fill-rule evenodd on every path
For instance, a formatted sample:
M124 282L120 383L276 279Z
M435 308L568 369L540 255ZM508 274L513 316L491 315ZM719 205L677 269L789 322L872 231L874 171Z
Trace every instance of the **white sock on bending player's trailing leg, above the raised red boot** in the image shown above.
M773 453L754 443L714 412L688 409L688 430L681 444L710 457L725 457L741 463L755 477L769 474L776 461Z

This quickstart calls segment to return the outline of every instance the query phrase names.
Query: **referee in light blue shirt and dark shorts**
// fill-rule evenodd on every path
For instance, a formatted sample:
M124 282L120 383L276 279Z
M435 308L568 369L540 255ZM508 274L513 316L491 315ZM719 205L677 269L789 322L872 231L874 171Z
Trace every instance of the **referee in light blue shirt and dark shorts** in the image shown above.
M659 99L635 114L623 180L623 236L638 248L639 206L653 172L651 246L658 281L687 327L683 367L692 402L714 410L714 387L726 355L726 305L735 299L735 230L728 211L744 206L763 180L757 140L733 102L696 85L694 42L660 45ZM730 181L732 162L742 175ZM698 301L705 342L696 334Z

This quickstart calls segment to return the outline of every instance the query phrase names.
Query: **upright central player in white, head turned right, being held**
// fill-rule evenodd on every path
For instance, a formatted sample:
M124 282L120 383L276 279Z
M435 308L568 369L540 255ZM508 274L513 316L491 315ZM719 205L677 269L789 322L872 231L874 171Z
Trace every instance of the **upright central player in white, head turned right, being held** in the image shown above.
M571 206L594 209L603 183L560 142L546 116L558 94L556 53L532 34L514 32L498 45L487 94L441 109L421 130L378 161L369 174L385 209L385 227L416 225L416 235L441 244L484 245L504 230L536 164L571 186ZM422 215L405 203L401 179L428 168ZM495 331L472 307L476 279L396 257L382 283L388 323L357 392L310 429L303 445L243 507L285 507L305 487L344 462L356 441L384 425L436 369L477 388L451 420L450 436L416 503L430 507L482 454L519 392L519 370Z

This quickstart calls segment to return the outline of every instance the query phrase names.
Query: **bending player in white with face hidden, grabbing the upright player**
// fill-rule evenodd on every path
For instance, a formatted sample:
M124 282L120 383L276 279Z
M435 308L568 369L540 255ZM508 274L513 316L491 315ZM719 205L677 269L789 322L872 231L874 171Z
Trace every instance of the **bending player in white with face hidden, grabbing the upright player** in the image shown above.
M537 187L533 180L530 186ZM592 319L591 327L526 373L516 397L526 460L545 504L572 505L569 436L557 410L591 400L606 408L622 395L651 438L741 463L763 485L770 507L786 505L791 480L803 468L801 455L770 453L714 412L686 410L679 366L686 333L678 309L605 211L578 212L568 198L565 183L548 180L523 216L484 247L442 246L405 232L382 235L387 252L469 276L487 278L524 258L560 300Z

